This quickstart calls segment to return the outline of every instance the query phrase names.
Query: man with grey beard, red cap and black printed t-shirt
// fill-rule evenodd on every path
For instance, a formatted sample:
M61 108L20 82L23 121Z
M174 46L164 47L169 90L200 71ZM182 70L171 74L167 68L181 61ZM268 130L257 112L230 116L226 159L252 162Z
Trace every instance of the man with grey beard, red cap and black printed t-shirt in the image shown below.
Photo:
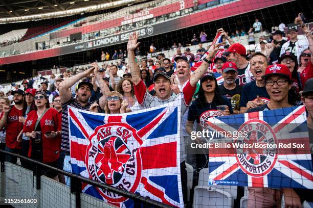
M222 66L222 77L224 82L218 86L221 95L230 99L234 114L239 114L239 102L242 86L235 83L238 75L237 66L233 62L226 62Z

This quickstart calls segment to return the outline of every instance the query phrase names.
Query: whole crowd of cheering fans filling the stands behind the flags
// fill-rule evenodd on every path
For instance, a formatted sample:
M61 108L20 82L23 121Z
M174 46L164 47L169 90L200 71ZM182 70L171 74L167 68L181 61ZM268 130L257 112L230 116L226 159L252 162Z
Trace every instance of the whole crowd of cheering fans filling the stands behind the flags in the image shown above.
M185 161L197 170L208 166L208 155L196 154L194 158L186 155L194 122L205 128L204 112L218 110L221 116L227 116L305 105L309 134L313 137L313 50L308 47L313 46L313 35L301 18L297 17L295 23L300 24L305 35L298 36L297 30L289 28L290 40L286 41L283 34L276 31L273 41L261 40L260 48L248 56L243 45L233 43L227 33L219 29L217 33L222 33L223 42L210 46L207 53L199 45L196 55L190 53L189 48L185 53L177 48L172 58L159 54L155 61L139 62L135 54L140 44L138 34L132 34L127 43L127 66L112 63L99 67L98 63L92 63L82 72L53 75L49 84L42 79L40 89L32 88L32 80L29 80L23 82L24 90L17 86L8 96L1 92L1 148L71 172L70 106L119 114L179 101L181 115L184 115L181 176L187 204ZM225 46L226 40L231 44L229 48ZM205 53L207 56L203 58ZM199 60L202 64L192 72L191 67ZM123 70L123 77L118 75L119 70ZM219 76L223 78L221 84L216 79ZM49 85L51 90L48 90ZM219 106L226 107L220 110ZM204 141L204 138L196 139L198 143ZM17 162L10 155L6 155L6 160ZM32 168L27 162L20 162L23 167ZM48 168L43 172L70 184L69 178ZM286 206L301 207L303 199L311 200L308 193L290 188L249 188L248 206L278 205L284 194ZM269 194L271 197L267 197Z

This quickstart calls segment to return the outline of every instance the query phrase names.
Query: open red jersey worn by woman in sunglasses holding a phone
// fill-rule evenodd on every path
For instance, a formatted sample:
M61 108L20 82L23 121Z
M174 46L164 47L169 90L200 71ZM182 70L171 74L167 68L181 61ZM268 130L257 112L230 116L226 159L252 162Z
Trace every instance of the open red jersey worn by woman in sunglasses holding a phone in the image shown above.
M35 131L36 121L38 120L37 111L29 112L25 125L24 132ZM60 154L60 137L47 138L44 133L49 131L61 131L61 119L59 112L55 109L50 108L46 114L40 119L41 128L41 141L42 141L42 162L52 163L59 158ZM28 157L32 155L32 138L30 138L30 148L28 152Z

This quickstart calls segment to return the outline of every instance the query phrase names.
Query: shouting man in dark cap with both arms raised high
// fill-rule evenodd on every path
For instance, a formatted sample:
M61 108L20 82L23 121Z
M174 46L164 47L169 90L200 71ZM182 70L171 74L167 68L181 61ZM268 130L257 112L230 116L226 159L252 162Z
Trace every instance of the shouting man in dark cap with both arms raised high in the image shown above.
M193 74L190 75L189 82L185 85L182 92L177 94L173 94L172 90L174 86L171 84L171 79L165 72L159 72L154 74L154 89L155 89L155 96L153 97L146 91L145 84L140 79L140 69L135 61L135 49L139 46L140 42L137 42L139 34L131 34L129 36L129 41L127 43L127 50L128 50L128 58L129 58L129 69L132 76L132 81L134 83L135 88L135 95L137 97L138 102L142 106L143 109L148 109L150 107L157 107L164 105L166 103L180 100L181 103L181 115L187 110L189 106L192 95L196 90L196 84L199 79L205 74L207 68L211 61L205 59ZM214 46L212 46L213 48ZM211 57L211 55L209 55ZM179 64L186 64L189 66L189 63L184 59L177 60ZM177 88L176 88L177 90ZM184 142L181 139L181 176L182 176L182 187L183 187L183 197L184 197L184 204L187 204L187 172L185 172L185 159L182 156L184 152Z

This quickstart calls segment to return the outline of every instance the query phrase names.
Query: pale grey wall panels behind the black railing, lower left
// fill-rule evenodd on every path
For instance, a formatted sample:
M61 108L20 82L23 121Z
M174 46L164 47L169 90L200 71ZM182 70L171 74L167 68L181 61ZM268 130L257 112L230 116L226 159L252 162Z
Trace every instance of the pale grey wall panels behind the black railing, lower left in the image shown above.
M70 187L41 176L41 188L36 190L36 177L33 172L18 165L5 162L5 172L1 174L0 196L4 199L37 199L37 203L15 203L14 207L26 208L68 208L75 207L75 195ZM81 207L115 207L108 203L82 193Z

